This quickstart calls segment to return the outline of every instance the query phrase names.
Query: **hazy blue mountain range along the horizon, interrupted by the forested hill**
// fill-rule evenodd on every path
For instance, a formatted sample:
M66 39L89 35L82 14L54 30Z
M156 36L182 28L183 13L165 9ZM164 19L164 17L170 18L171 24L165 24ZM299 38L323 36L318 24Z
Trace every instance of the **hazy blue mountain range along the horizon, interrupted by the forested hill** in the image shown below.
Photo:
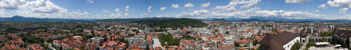
M146 18L129 18L129 19L59 19L59 18L35 18L35 17L0 17L0 20L7 21L139 21L139 20L170 20L178 19L174 17L146 17ZM240 17L228 17L228 18L205 18L205 19L193 19L198 21L284 21L284 22L350 22L351 20L338 19L338 20L323 20L323 19L286 19L280 17L259 17L252 16L249 18Z

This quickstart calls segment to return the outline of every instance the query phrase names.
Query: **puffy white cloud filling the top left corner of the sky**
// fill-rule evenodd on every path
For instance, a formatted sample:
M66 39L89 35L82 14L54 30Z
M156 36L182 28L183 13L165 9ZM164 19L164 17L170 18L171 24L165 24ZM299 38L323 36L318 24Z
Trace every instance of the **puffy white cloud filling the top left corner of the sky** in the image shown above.
M19 5L26 4L26 0L1 0L0 9L17 9Z

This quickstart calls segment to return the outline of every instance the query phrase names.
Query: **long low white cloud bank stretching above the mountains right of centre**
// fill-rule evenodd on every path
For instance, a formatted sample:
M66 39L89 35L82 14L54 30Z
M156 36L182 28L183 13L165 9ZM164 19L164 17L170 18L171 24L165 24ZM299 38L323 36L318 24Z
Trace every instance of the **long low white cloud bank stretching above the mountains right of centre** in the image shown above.
M323 18L326 15L305 13L305 12L289 12L284 10L260 10L260 8L255 7L246 11L236 11L232 13L212 13L208 16L261 16L261 17L284 17L284 18L297 18L297 19L306 19L306 18Z

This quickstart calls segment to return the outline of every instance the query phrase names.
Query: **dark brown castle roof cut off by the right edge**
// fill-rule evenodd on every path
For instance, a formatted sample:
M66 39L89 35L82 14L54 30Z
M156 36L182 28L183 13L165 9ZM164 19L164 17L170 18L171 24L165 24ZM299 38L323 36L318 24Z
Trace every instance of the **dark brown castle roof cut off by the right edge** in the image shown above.
M339 37L346 37L350 39L351 37L351 31L347 30L340 30L338 27L334 29L333 35L338 35Z

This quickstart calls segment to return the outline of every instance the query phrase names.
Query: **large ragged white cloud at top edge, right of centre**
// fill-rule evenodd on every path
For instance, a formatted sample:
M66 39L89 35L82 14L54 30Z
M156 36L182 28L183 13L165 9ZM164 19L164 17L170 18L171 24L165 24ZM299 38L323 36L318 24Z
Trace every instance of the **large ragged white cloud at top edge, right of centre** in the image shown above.
M220 9L222 11L234 11L235 6L239 5L239 4L244 4L243 6L240 6L241 8L249 8L249 7L254 7L256 6L261 0L232 0L229 5L226 6L216 6L214 7L212 10L217 10Z

